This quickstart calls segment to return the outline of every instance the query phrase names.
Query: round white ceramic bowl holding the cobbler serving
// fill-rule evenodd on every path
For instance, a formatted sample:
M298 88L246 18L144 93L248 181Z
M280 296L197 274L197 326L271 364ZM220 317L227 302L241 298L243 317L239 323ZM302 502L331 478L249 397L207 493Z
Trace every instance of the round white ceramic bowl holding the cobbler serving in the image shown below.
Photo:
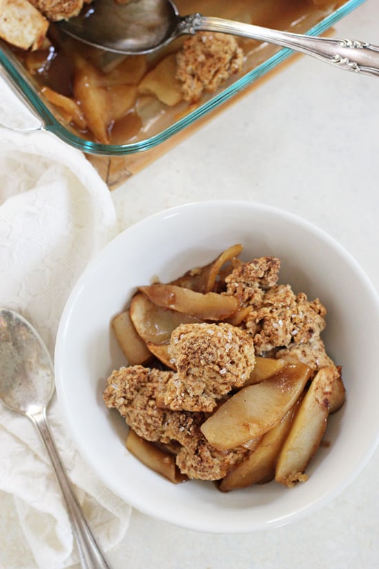
M272 482L227 494L212 483L174 485L125 449L126 426L101 399L105 379L125 361L110 321L136 286L177 277L243 243L245 260L275 255L280 282L327 307L327 350L342 365L345 406L295 488ZM365 465L378 443L379 299L356 261L331 237L287 212L254 203L193 203L149 217L116 237L85 270L63 312L57 392L84 459L116 495L153 517L206 532L280 526L324 505Z

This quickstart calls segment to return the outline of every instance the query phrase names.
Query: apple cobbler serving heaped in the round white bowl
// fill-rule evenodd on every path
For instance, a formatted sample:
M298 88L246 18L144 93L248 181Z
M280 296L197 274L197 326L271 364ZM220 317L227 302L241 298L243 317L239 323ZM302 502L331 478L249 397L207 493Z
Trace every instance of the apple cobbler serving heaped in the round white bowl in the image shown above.
M174 482L293 486L345 387L320 337L320 300L279 283L276 257L244 262L241 251L139 287L113 320L130 365L103 399L130 427L127 448Z

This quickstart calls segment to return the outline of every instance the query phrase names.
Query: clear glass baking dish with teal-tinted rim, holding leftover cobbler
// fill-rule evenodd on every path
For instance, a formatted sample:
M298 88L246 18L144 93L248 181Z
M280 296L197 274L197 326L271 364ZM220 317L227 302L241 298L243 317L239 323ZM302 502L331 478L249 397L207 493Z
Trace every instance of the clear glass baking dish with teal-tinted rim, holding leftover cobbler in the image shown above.
M320 35L363 1L365 0L234 0L230 3L222 0L178 0L177 6L181 14L201 12L204 15L240 19L295 33ZM182 101L169 108L163 103L156 103L153 106L155 116L144 117L145 126L143 124L138 135L123 144L99 143L74 130L57 108L43 97L39 84L3 41L0 41L0 72L33 114L37 115L41 121L39 128L53 132L85 154L125 157L152 150L174 134L198 123L199 119L251 86L256 79L274 69L291 54L287 48L281 49L267 43L252 42L250 47L248 43L246 45L243 70L239 74L223 83L216 92L205 94L196 104Z

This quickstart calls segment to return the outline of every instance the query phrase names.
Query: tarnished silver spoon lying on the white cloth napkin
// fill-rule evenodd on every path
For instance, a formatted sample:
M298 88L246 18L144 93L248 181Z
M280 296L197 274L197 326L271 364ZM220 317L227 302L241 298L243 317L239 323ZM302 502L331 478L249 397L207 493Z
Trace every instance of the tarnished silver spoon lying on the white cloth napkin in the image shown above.
M46 409L53 393L52 361L38 333L16 312L0 310L0 398L39 430L61 486L82 567L110 569L72 492L48 428Z

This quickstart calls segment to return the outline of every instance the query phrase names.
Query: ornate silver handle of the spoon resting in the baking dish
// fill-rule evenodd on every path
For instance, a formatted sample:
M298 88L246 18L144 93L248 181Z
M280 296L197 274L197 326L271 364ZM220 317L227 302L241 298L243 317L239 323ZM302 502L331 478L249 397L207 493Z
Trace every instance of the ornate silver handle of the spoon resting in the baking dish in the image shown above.
M180 28L183 34L193 34L203 30L267 41L267 43L274 43L277 46L311 55L347 71L379 76L379 47L371 46L365 41L292 34L232 20L206 17L201 14L183 17Z

